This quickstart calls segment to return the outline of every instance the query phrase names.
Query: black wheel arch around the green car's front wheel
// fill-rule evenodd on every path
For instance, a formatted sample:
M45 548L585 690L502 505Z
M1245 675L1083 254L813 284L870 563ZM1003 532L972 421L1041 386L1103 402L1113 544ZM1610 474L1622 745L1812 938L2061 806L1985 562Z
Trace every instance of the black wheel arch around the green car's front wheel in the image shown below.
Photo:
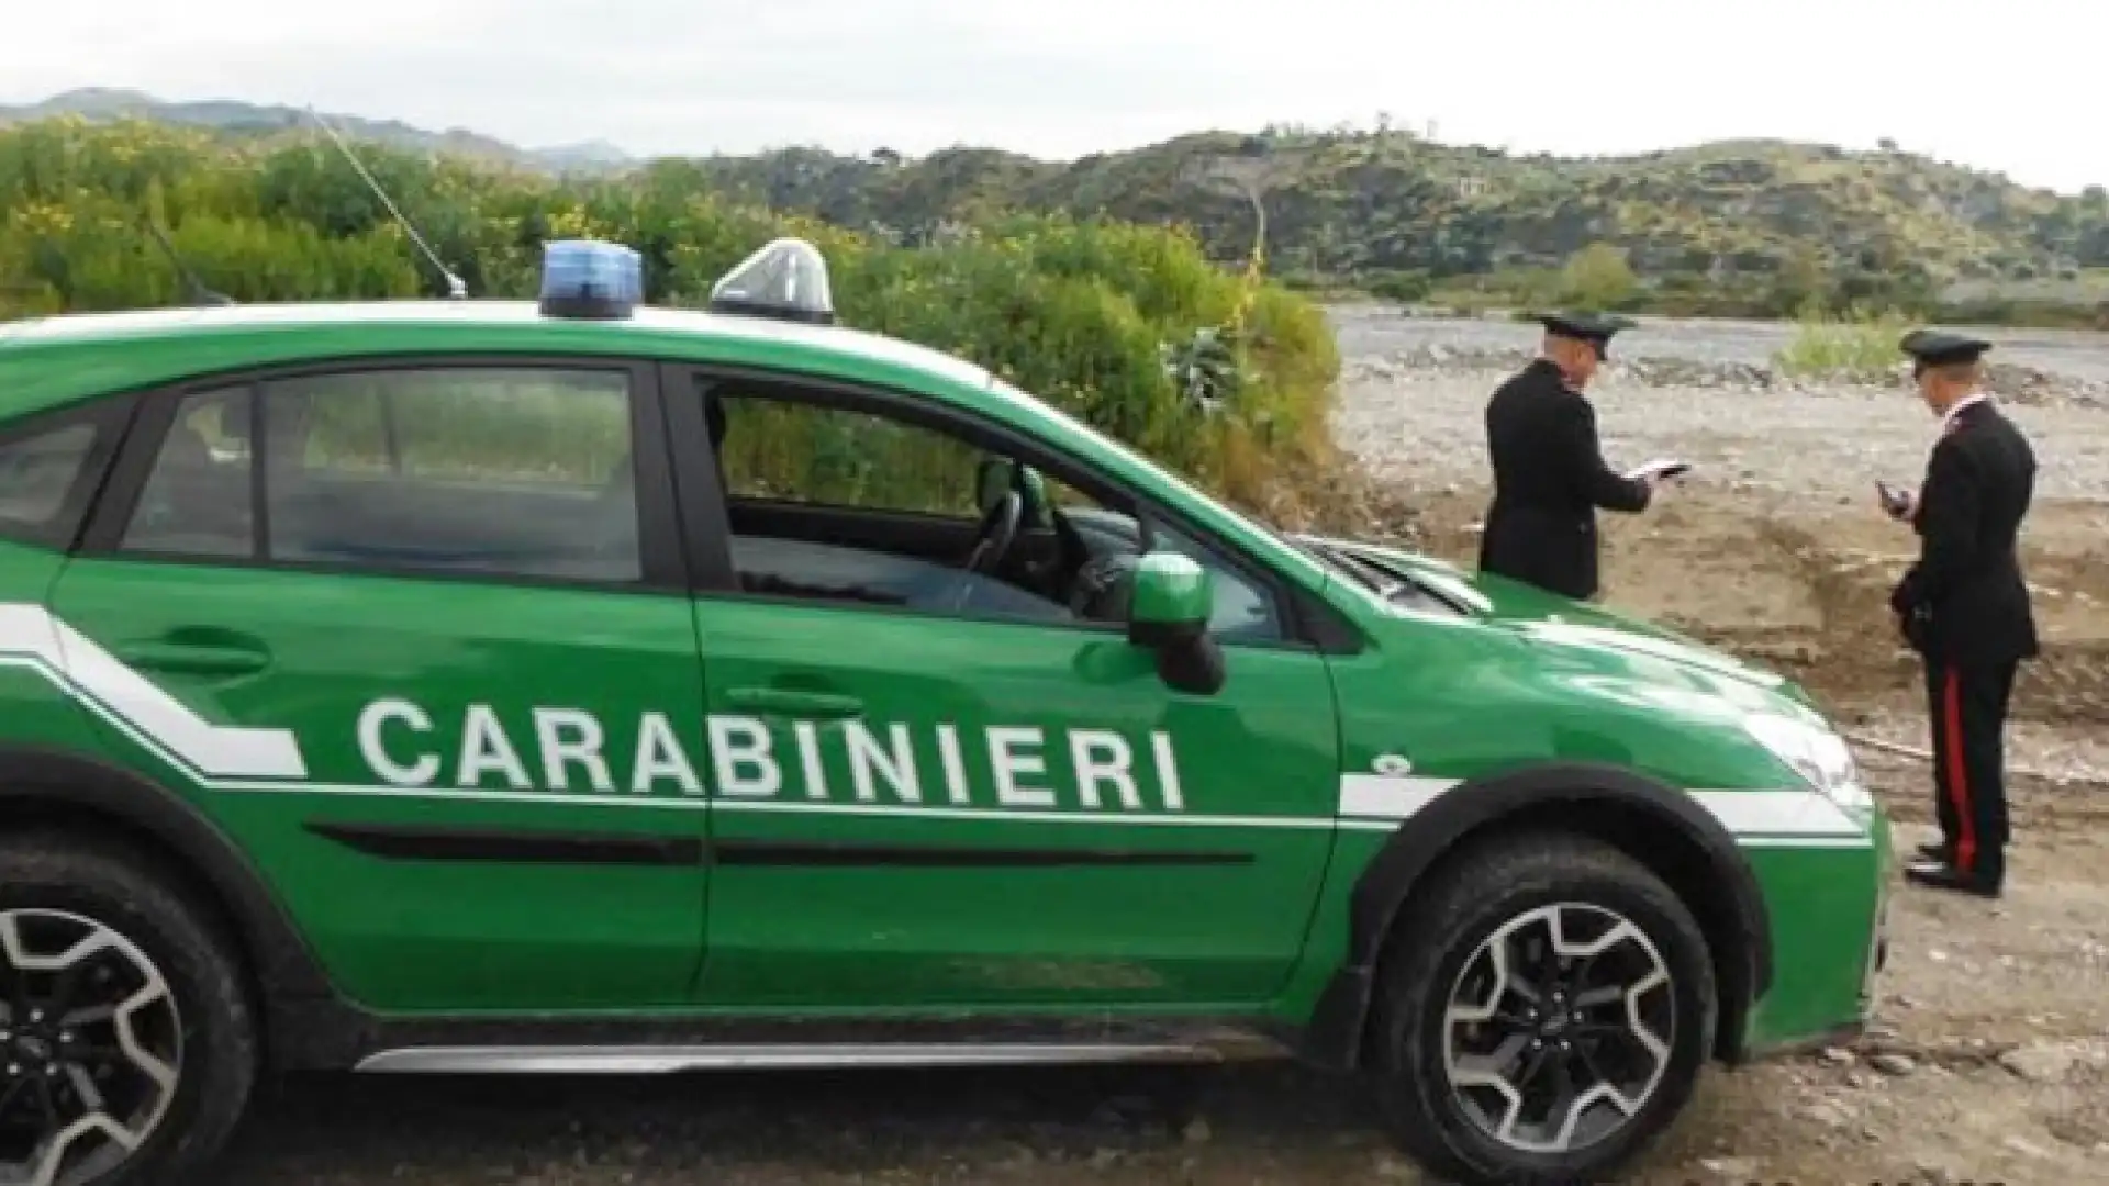
M1303 1034L1305 1057L1335 1070L1365 1066L1371 1000L1386 945L1409 905L1447 867L1516 831L1603 840L1691 910L1721 986L1713 1057L1742 1061L1750 1009L1772 988L1772 922L1757 872L1736 838L1691 796L1622 766L1554 762L1462 783L1402 821L1362 869L1348 907L1348 958Z

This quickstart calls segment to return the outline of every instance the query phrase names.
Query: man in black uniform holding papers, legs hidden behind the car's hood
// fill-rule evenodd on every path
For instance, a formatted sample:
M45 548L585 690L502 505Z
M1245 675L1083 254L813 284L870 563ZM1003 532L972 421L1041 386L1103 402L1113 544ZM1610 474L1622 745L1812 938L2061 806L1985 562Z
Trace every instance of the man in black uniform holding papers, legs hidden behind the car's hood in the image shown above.
M1611 352L1624 317L1542 314L1540 357L1487 401L1493 504L1478 542L1481 572L1565 597L1597 595L1597 511L1639 513L1658 475L1626 477L1603 460L1597 409L1582 395Z

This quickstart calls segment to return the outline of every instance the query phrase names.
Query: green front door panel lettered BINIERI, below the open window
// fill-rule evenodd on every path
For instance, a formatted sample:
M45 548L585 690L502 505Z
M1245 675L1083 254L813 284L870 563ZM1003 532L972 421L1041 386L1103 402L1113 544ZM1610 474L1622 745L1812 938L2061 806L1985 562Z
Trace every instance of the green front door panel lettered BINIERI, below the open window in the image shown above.
M696 620L713 728L770 747L713 787L704 1002L1253 1009L1289 979L1339 798L1320 656L1238 650L1183 696L1101 629L734 597Z

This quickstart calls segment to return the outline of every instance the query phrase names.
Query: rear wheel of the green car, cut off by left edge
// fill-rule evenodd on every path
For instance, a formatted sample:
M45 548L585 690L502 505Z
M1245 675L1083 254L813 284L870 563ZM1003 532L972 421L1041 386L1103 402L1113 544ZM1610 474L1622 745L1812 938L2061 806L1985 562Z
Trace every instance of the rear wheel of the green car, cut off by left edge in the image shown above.
M196 1182L257 1078L221 929L143 853L65 834L0 840L0 1180Z

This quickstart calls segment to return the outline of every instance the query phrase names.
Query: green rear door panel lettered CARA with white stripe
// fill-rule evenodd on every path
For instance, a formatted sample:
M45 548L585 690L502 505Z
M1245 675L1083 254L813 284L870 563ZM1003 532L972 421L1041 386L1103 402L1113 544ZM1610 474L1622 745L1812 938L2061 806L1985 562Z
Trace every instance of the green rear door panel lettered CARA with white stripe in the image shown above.
M647 713L690 753L702 745L683 599L80 559L51 604L80 639L76 671L137 667L135 650L177 631L262 644L262 671L146 669L165 699L105 694L99 749L190 796L251 853L350 1000L544 1011L690 998L707 812L673 781L633 789ZM591 646L576 642L582 623ZM186 739L177 709L215 734ZM553 785L536 709L601 722L610 781L569 764ZM232 730L291 745L238 766ZM542 834L698 855L420 859L413 842L432 831L494 850Z

